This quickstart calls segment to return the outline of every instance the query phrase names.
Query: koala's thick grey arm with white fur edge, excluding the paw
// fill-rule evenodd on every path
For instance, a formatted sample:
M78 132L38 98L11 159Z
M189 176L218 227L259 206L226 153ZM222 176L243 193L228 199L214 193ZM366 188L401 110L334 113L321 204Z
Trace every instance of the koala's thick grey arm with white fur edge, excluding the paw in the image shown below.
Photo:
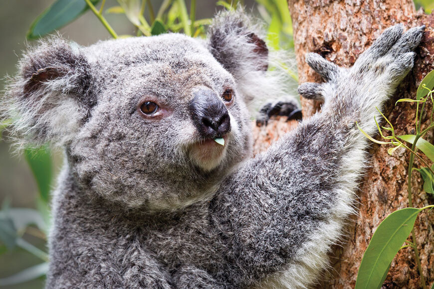
M232 233L226 237L246 280L286 272L287 282L306 285L325 265L363 168L365 140L346 126L314 116L224 184L216 223Z

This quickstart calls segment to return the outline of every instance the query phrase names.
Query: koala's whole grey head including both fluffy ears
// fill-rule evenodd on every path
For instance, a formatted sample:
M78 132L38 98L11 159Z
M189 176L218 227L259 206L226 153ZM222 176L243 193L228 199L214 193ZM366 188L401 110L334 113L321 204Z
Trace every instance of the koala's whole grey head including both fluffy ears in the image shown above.
M23 140L65 147L83 191L130 208L186 205L250 155L242 79L265 77L268 50L245 22L221 13L208 40L45 40L21 60L3 104Z

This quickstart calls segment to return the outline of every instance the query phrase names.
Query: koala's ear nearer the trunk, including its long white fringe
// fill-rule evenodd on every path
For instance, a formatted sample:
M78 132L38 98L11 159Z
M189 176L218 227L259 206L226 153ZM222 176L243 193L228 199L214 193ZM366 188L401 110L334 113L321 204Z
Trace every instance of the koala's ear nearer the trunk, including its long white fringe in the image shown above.
M295 59L284 51L269 51L260 28L241 7L221 11L208 30L209 50L234 76L251 113L255 114L264 103L282 100L298 107L297 98L291 96L296 83L290 83L288 74L282 69L292 68ZM274 68L272 71L267 71L269 63Z

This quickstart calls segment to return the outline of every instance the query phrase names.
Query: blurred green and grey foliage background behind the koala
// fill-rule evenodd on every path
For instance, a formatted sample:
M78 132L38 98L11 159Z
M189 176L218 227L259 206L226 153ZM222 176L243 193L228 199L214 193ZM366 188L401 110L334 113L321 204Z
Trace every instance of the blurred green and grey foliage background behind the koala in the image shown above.
M22 50L25 49L27 43L32 44L33 42L33 40L27 40L26 35L38 15L54 2L68 3L68 1L0 1L1 90L4 90L6 75L15 74L15 65ZM73 1L84 2L84 0L70 0L70 2ZM98 0L90 1L98 2ZM102 1L95 4L98 9ZM265 23L268 46L285 50L293 48L292 24L286 0L239 1L246 6L248 11ZM233 2L230 0L152 0L149 2L106 0L102 15L118 35L148 35L165 30L185 32L186 28L187 30L193 28L192 35L203 37L205 25L202 24L209 22L209 18L216 11L231 8L231 4L234 5L236 2L236 0ZM127 3L132 4L130 6L138 5L140 12L144 10L142 14L144 18L135 18L131 14L129 17L123 13L119 14L122 12L122 6L119 5ZM191 26L191 21L188 22L192 18L191 3L196 3L193 23L198 25ZM417 8L423 6L427 12L431 12L434 0L416 0L415 4ZM160 18L157 17L159 23L156 23L154 18L158 16L158 11L162 6L166 9L162 11ZM107 13L110 7L115 7L111 10L117 13ZM151 7L154 13L150 13ZM67 16L63 14L62 17ZM37 25L32 27L36 29ZM91 10L87 10L59 31L65 38L81 45L89 45L101 39L111 38L110 33ZM288 72L288 82L295 83L296 73L287 67L283 69ZM4 124L0 123L0 136L3 127ZM3 132L3 139L7 140L7 137L7 133ZM55 184L53 179L55 180L61 163L61 151L49 151L43 148L36 151L26 150L18 154L10 142L5 142L0 138L0 288L43 288L44 272L47 268L46 233L49 228L49 190Z

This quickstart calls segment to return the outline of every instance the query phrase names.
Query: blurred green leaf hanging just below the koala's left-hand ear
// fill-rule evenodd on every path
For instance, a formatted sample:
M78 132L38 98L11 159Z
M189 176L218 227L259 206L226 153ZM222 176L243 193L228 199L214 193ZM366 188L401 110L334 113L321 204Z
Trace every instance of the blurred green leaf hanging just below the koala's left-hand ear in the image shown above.
M51 156L48 148L28 148L24 151L24 155L36 179L41 199L48 202L52 178Z

